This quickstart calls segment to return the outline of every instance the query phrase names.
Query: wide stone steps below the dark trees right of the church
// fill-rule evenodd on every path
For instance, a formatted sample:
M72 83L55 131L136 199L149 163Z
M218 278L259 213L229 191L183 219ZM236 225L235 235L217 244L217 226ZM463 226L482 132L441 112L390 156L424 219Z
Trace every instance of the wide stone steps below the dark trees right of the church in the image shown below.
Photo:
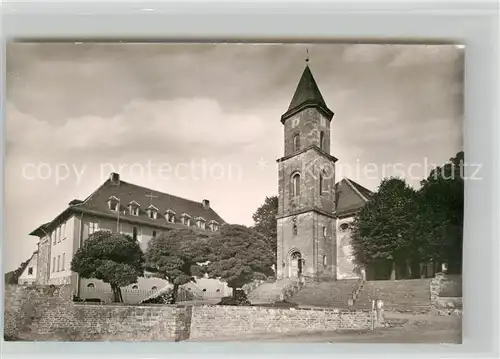
M386 311L426 313L431 307L430 279L366 281L353 309L369 309L377 299Z

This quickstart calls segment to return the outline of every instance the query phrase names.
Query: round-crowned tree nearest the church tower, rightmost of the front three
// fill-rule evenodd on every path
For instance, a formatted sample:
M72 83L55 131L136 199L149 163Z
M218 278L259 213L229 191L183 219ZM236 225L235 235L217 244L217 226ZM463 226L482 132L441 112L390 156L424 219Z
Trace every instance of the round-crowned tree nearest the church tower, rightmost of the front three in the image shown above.
M244 284L274 275L274 256L267 239L252 228L225 225L210 239L209 248L206 272L225 281L233 289L233 298Z

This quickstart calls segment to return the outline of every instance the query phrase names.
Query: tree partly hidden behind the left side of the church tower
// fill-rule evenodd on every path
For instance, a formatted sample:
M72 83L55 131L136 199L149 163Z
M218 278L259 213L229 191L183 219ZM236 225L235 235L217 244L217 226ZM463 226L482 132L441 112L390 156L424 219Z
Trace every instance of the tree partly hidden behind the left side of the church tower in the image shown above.
M266 197L262 204L253 214L255 222L254 229L261 233L269 247L269 250L276 258L276 240L277 240L277 222L278 215L278 196Z

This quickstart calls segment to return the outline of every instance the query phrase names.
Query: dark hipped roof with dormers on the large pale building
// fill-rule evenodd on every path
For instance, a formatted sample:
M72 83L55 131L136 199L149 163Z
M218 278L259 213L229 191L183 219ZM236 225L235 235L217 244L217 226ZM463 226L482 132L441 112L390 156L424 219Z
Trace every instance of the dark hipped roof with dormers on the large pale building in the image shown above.
M117 218L118 213L111 210L108 205L109 198L113 196L119 200L120 221L151 225L158 228L186 228L179 223L180 216L185 213L191 217L192 226L196 226L195 219L198 217L206 221L207 228L212 220L218 222L220 225L225 223L225 221L210 208L208 201L207 206L204 205L203 202L189 200L121 181L118 177L116 182L112 182L111 179L106 180L85 200L71 201L68 208L61 212L54 220L41 225L30 234L43 236L45 231L48 231L50 227L57 225L56 223L59 219L63 219L75 212L88 213L96 217ZM128 205L131 202L139 204L138 216L133 216L129 213ZM156 219L152 219L148 215L147 209L151 204L158 209ZM165 213L167 210L175 213L177 223L168 223L166 221Z

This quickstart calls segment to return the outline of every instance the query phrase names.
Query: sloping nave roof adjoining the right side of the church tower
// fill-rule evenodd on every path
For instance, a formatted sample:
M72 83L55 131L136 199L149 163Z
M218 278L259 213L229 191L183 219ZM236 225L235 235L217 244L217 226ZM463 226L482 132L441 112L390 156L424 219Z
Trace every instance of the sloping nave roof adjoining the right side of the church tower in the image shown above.
M339 217L354 215L372 195L369 189L349 178L344 178L335 185L335 193L335 212Z

